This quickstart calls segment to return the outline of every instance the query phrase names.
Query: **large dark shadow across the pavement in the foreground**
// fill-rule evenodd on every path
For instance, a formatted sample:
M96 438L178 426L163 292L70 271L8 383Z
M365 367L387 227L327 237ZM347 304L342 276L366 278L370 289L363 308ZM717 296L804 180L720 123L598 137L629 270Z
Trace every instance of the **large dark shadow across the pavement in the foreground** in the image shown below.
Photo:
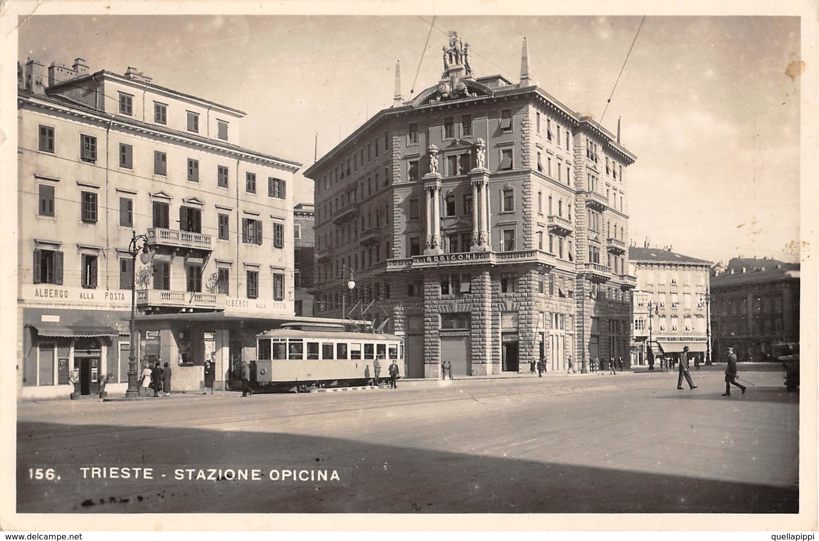
M44 438L65 434L66 428L72 429L69 436ZM106 443L100 441L103 436ZM61 480L29 480L29 468L41 466L55 467ZM84 480L80 466L152 466L154 475L167 477ZM241 481L173 480L174 468L180 467L259 467L263 476ZM335 470L339 480L269 480L271 469ZM699 480L676 473L658 475L309 435L25 422L17 427L16 486L18 512L799 511L796 487Z

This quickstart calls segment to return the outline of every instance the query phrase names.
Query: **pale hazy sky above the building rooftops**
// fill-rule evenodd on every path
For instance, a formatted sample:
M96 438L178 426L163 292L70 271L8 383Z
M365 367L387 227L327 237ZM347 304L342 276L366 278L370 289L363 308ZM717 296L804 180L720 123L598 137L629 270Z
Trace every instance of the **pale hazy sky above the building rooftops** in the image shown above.
M637 157L625 172L633 243L713 262L798 261L799 19L641 19L34 15L20 25L18 59L135 66L155 84L247 111L243 146L306 169L316 146L321 157L391 106L396 60L404 98L417 95L437 84L455 30L478 75L517 82L526 37L542 89L613 133L622 119ZM312 181L296 184L296 202L312 201Z

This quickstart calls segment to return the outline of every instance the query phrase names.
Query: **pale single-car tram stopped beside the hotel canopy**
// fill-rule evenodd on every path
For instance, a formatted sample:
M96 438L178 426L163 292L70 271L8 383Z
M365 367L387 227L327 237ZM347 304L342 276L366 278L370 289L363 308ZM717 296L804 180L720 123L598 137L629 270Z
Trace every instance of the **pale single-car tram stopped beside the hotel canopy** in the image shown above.
M275 329L256 335L256 385L292 384L296 389L366 384L381 365L380 379L389 378L396 361L406 374L404 340L395 334L344 330Z

